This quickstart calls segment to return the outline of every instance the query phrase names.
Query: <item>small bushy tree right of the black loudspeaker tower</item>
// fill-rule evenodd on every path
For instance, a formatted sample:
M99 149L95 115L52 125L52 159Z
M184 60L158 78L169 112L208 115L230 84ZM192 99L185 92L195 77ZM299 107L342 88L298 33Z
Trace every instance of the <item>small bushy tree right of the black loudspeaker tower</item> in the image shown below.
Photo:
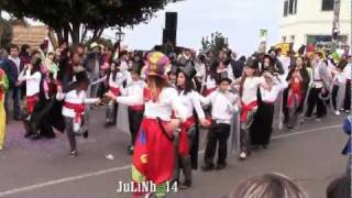
M211 33L210 38L208 36L201 38L201 50L204 52L211 51L215 55L218 55L227 46L227 38L219 32Z

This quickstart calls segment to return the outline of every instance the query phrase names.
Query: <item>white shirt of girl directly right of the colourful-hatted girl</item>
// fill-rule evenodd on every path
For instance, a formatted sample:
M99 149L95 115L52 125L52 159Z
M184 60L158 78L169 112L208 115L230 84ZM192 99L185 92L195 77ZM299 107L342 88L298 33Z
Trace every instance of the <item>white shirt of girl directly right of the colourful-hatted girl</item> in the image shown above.
M194 109L196 110L199 120L204 120L206 118L205 111L200 106L200 98L198 92L193 90L185 95L184 91L182 91L179 95L179 100L186 108L187 118L194 116ZM179 114L176 113L176 117L179 117Z

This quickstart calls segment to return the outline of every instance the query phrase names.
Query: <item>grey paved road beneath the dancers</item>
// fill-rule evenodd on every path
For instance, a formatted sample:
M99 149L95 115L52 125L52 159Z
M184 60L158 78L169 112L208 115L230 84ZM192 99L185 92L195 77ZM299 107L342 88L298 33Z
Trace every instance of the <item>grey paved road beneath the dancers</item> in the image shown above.
M6 198L124 198L117 194L119 180L130 179L129 135L103 129L103 111L96 110L88 140L78 141L79 157L69 157L65 134L55 140L23 139L21 123L11 121L7 147L0 153L0 197ZM311 198L323 198L326 187L344 172L340 151L346 136L341 132L343 116L308 121L296 132L275 132L268 150L253 153L245 162L229 156L221 172L194 172L191 189L172 198L217 198L228 195L242 179L267 172L294 178ZM105 158L112 154L113 161ZM199 154L202 162L202 153Z

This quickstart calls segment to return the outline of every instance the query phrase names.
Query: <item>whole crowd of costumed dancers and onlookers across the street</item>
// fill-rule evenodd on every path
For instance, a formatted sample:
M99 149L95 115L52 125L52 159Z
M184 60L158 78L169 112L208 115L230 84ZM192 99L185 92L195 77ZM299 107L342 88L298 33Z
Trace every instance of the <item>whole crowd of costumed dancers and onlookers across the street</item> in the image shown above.
M167 182L191 187L202 131L201 169L220 170L227 167L228 140L237 127L238 154L244 161L253 150L268 148L276 111L288 131L311 119L322 121L329 111L349 113L351 67L349 51L306 53L304 46L286 55L272 47L238 57L228 47L213 54L190 48L129 52L98 43L62 43L53 52L45 43L38 50L11 45L0 55L0 151L13 117L23 122L23 136L33 141L66 132L69 154L78 156L76 138L89 136L91 112L106 106L101 124L110 128L120 119L119 106L128 106L132 180L152 180L157 185L154 196L165 197ZM282 109L275 110L275 103ZM284 176L261 179L278 179L304 197ZM241 190L235 194L245 197Z

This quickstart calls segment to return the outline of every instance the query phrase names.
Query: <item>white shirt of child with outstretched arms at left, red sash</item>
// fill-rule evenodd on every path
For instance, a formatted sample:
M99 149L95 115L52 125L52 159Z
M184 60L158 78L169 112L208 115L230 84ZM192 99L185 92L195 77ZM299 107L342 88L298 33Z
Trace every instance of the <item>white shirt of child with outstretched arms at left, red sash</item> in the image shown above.
M95 98L86 98L87 92L81 90L77 94L77 90L70 90L67 94L57 92L56 99L62 100L65 98L65 102L75 103L75 105L84 105L84 103L94 103L97 101ZM76 113L74 109L68 109L65 106L63 107L63 116L68 118L75 118Z

